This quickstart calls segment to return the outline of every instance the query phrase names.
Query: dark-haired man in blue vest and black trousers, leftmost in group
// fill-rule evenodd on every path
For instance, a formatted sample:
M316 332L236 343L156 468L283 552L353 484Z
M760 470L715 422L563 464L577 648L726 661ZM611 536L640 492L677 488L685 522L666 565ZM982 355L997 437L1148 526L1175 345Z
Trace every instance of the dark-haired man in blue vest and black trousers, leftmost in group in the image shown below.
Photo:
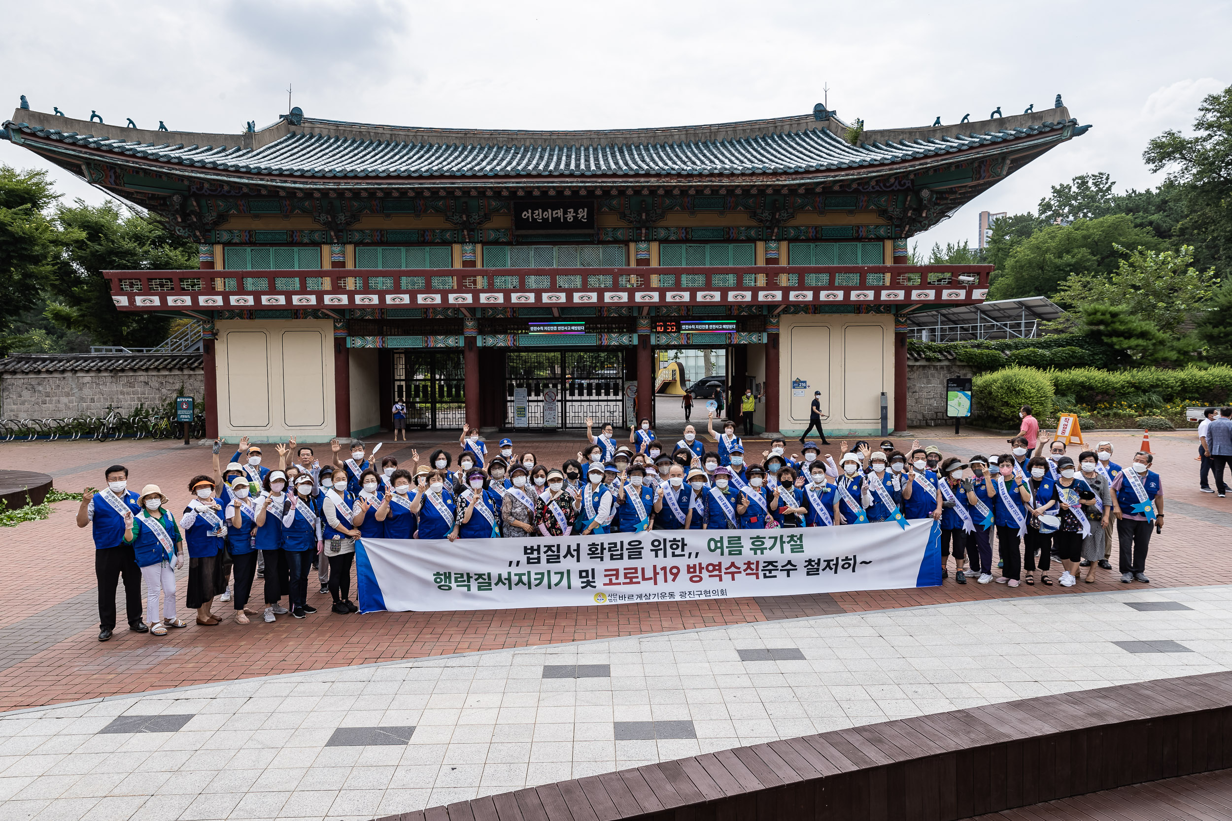
M133 549L124 539L126 518L139 513L137 494L128 490L128 468L111 465L103 471L107 489L81 491L78 527L91 527L94 537L94 576L99 585L99 641L107 641L116 630L116 587L124 581L124 609L128 629L149 630L142 622L142 571L133 560Z

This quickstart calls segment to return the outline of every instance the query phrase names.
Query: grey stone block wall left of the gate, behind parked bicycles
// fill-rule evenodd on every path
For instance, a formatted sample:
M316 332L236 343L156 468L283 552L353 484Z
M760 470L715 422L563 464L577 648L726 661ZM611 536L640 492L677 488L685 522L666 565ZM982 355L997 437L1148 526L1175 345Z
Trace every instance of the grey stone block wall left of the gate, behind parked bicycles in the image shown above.
M103 416L107 407L127 414L180 394L205 396L205 370L38 370L0 374L0 419Z

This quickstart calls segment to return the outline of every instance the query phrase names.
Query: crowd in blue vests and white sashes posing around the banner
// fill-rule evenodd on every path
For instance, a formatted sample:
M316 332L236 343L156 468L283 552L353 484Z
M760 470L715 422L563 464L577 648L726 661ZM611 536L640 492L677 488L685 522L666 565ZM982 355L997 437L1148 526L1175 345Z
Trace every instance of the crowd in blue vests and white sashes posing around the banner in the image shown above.
M1030 409L1024 409L1029 415ZM813 442L787 453L774 438L754 455L731 420L706 439L686 425L674 443L659 439L649 420L620 441L607 423L586 425L577 459L542 463L500 439L494 453L478 431L463 426L458 451L434 451L410 465L378 458L360 439L334 439L324 463L292 437L275 444L274 464L246 438L223 465L214 443L213 474L188 481L179 517L156 485L128 487L128 470L106 470L106 490L83 494L78 526L92 524L99 575L100 641L116 627L116 588L126 588L131 629L165 635L187 624L176 614L175 570L188 564L186 604L201 625L216 625L216 597L234 619L304 618L309 577L334 613L359 611L351 599L355 540L474 539L580 535L676 529L766 529L859 526L936 519L942 577L967 583L1051 586L1095 580L1111 569L1112 533L1120 545L1121 581L1149 581L1146 555L1152 528L1163 524L1163 485L1152 455L1135 453L1125 470L1112 444L1100 442L1077 459L1061 441L1019 436L1000 455L942 457L936 447L876 449L840 443L838 462ZM993 542L999 560L993 566ZM999 571L999 572L998 572ZM140 582L147 585L144 620ZM264 609L250 608L255 580L264 581ZM159 595L163 596L161 617Z

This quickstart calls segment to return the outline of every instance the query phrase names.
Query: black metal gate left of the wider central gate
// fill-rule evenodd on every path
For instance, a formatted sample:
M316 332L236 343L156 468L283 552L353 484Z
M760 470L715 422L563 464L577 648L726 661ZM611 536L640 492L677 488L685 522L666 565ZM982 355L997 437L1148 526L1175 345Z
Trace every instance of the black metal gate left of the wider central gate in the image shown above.
M394 352L393 395L407 402L408 428L461 428L466 421L462 352Z

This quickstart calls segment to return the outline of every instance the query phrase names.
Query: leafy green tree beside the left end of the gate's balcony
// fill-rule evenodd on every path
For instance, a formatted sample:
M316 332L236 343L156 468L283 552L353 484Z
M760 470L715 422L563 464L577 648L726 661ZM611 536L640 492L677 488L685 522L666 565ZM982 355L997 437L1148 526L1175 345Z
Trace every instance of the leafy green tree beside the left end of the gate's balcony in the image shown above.
M102 271L170 271L197 267L196 246L172 235L153 217L123 214L111 202L78 199L55 215L65 250L51 274L47 315L57 325L87 334L96 345L153 347L168 336L170 320L121 313L111 302Z

